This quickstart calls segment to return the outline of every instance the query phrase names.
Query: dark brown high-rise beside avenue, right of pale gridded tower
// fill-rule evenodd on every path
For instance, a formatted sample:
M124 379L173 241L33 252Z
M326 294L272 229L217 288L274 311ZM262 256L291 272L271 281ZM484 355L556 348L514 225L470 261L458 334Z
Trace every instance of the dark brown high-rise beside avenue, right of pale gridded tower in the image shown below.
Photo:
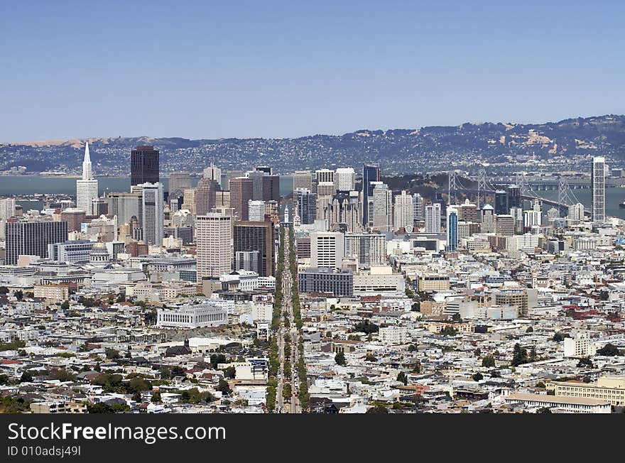
M273 224L271 222L234 222L234 254L259 251L260 276L273 276Z

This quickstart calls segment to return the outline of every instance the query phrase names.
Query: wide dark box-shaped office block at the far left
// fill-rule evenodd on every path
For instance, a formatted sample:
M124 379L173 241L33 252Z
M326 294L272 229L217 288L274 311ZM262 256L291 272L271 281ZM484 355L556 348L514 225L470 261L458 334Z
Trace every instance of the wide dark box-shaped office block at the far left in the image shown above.
M48 244L67 241L67 222L20 220L4 224L5 262L14 266L21 255L48 257Z

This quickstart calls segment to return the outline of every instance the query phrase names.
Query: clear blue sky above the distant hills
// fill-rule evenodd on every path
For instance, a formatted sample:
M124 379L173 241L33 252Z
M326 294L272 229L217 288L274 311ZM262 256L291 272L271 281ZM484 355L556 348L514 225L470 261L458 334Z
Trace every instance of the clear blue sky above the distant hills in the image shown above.
M0 142L625 112L625 1L0 2Z

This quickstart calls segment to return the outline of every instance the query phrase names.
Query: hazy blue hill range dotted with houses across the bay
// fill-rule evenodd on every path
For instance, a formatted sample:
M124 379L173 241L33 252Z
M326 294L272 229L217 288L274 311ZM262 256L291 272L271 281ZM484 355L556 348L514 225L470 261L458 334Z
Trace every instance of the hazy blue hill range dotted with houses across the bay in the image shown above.
M23 165L30 173L78 173L89 141L97 175L127 175L130 151L150 144L161 151L161 171L200 173L211 160L226 170L272 165L277 173L298 169L359 167L379 162L383 173L402 174L477 163L505 168L510 163L549 161L583 168L589 156L606 156L611 166L625 160L625 116L565 119L546 124L462 124L421 129L359 130L342 136L300 138L118 137L0 144L0 170Z

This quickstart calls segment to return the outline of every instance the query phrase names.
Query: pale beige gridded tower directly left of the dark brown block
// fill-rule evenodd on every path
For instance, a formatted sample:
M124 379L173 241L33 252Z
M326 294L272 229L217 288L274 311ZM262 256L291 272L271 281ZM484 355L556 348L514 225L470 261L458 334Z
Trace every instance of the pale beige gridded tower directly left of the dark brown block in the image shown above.
M198 215L195 219L197 283L219 278L232 268L232 217L222 214Z

